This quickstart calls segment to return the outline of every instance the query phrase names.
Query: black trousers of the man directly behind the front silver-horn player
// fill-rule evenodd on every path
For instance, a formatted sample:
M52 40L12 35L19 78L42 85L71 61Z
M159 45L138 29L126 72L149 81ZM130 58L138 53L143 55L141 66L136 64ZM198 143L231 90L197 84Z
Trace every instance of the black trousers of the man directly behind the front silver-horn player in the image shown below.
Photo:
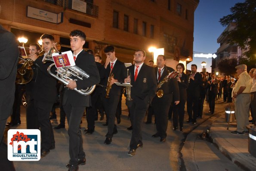
M35 101L34 107L38 118L38 123L41 132L41 149L49 150L50 147L55 146L54 134L52 131L52 124L49 119L52 110L52 102Z

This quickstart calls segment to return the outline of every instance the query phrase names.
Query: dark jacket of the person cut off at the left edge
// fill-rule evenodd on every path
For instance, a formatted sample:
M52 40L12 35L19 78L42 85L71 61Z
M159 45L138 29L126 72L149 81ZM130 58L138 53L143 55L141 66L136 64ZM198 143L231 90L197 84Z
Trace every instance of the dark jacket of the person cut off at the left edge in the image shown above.
M15 36L0 24L0 120L7 119L11 114L18 57Z

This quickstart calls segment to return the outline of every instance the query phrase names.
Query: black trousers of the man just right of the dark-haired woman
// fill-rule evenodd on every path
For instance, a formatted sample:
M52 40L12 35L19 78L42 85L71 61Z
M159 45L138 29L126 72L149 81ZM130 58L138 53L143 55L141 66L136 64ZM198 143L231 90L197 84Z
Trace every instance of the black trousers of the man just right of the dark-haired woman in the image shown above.
M188 110L188 120L196 122L198 114L198 104L199 96L195 96L194 93L188 92L187 98L187 110ZM193 116L192 116L193 112Z

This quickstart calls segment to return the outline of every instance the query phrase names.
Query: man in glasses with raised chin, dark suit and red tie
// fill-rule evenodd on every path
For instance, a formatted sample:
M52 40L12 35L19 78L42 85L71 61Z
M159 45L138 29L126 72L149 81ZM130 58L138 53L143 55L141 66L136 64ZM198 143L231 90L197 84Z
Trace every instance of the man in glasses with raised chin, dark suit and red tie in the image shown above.
M146 53L144 50L136 50L133 55L135 64L128 67L131 76L124 79L124 82L130 82L132 101L126 101L130 111L133 132L130 140L130 150L128 155L134 156L137 148L142 147L142 125L148 106L154 98L157 89L156 76L154 68L144 64Z

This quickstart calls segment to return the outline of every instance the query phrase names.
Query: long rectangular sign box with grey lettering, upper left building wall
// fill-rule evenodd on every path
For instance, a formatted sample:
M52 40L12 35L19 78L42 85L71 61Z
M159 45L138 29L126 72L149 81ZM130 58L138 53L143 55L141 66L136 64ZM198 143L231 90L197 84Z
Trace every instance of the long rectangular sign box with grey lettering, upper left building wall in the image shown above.
M28 6L27 17L48 21L55 24L63 22L63 12L56 14L49 11L44 11L42 9L33 8L31 6Z

